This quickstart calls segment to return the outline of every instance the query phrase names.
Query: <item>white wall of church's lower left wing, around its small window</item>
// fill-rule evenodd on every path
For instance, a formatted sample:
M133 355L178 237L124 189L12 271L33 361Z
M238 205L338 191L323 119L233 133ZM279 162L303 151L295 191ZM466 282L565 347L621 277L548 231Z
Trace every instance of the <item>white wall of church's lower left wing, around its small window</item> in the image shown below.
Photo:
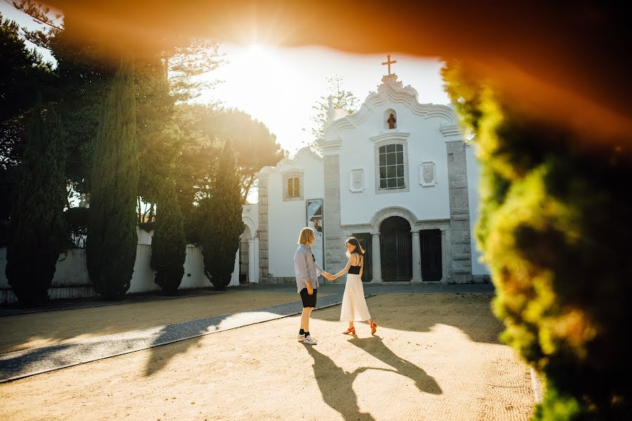
M283 201L283 173L292 170L303 172L303 200ZM305 201L324 198L324 179L323 161L307 148L299 150L295 159L284 159L276 168L269 171L268 272L270 276L295 276L294 253L297 249L299 232L306 227L307 222ZM327 212L327 203L324 204L324 208Z

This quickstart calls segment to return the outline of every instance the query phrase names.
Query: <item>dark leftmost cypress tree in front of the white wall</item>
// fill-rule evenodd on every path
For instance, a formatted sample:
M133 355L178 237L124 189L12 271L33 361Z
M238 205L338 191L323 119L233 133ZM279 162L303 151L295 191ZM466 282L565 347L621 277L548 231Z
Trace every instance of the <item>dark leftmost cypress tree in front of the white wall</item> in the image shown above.
M44 126L44 127L42 127ZM22 304L49 298L59 254L65 246L65 133L58 114L33 112L13 203L6 276Z

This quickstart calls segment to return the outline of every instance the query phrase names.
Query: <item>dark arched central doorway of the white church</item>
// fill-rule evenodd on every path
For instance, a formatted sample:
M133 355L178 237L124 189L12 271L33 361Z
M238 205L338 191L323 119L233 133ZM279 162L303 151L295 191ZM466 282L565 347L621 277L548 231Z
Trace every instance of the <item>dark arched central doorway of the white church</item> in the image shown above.
M413 237L407 220L392 216L382 222L380 255L384 281L410 281L413 278Z

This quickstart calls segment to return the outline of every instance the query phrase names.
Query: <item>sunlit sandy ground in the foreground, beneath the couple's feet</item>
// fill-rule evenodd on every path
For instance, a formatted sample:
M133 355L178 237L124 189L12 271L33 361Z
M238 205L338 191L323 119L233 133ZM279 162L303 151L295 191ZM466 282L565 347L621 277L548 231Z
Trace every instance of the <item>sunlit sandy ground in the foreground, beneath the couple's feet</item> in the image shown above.
M0 385L1 420L527 420L490 295L378 295L378 333L317 310Z

